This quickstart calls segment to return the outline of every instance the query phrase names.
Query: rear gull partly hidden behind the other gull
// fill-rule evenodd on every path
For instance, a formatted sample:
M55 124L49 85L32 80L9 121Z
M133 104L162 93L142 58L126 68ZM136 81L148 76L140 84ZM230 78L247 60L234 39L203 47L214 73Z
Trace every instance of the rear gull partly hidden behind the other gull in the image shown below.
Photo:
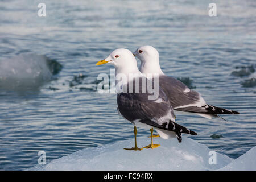
M141 60L141 73L158 74L159 86L164 90L172 108L177 111L195 113L208 119L218 114L239 114L237 111L209 105L199 92L189 89L183 82L164 75L159 64L159 53L152 46L141 46L134 53Z

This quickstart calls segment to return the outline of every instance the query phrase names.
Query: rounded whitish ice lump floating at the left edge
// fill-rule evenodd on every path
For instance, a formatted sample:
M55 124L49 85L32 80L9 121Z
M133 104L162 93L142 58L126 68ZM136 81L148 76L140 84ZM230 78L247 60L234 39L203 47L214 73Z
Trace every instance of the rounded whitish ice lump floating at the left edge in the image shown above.
M29 53L0 60L0 89L36 88L51 77L45 56Z

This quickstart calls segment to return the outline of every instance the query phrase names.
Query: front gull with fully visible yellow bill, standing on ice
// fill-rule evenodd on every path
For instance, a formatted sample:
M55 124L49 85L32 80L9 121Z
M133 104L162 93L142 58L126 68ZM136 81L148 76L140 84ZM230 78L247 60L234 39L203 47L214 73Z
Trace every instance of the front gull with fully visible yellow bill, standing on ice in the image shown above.
M146 80L147 78L142 75L137 67L137 61L133 56L133 53L127 49L115 49L110 55L101 61L98 61L96 65L109 63L115 67L115 84L118 82L118 74L125 75L127 79L123 79L120 86L121 92L117 93L117 105L118 113L128 121L134 124L134 138L135 147L125 148L126 150L142 150L137 147L137 128L140 125L143 127L149 127L151 131L151 144L143 148L156 148L159 144L153 144L153 128L158 132L160 137L164 139L177 137L178 141L181 142L181 133L187 133L196 135L192 130L186 129L183 126L178 125L175 122L174 111L170 102L164 94L163 90L159 88L158 98L149 99L150 93L135 93L134 89L137 85L134 85L136 79L142 77ZM130 75L137 75L131 77ZM141 77L141 78L140 78ZM138 81L138 80L137 80ZM151 82L151 81L150 81ZM129 93L129 85L133 84L133 92ZM132 86L132 85L130 85ZM139 82L139 89L142 90L143 85Z

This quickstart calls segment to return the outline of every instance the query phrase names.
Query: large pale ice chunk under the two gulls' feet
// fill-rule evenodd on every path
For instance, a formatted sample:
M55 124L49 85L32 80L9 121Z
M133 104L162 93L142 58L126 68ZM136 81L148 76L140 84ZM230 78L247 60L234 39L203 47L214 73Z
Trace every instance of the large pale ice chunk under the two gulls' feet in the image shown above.
M150 138L138 138L138 146L146 146ZM37 165L32 170L212 170L220 169L233 159L216 153L217 164L209 164L211 151L204 144L183 136L177 139L154 138L158 148L142 151L127 151L133 147L134 139L106 144L102 147L87 148L46 165ZM47 156L47 154L46 154Z

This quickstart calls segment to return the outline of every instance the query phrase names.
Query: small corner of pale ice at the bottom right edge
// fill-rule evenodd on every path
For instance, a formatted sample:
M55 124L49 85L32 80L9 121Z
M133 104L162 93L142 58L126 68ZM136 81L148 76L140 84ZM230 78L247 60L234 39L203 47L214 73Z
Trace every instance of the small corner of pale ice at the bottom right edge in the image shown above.
M220 170L252 171L256 169L256 146Z

